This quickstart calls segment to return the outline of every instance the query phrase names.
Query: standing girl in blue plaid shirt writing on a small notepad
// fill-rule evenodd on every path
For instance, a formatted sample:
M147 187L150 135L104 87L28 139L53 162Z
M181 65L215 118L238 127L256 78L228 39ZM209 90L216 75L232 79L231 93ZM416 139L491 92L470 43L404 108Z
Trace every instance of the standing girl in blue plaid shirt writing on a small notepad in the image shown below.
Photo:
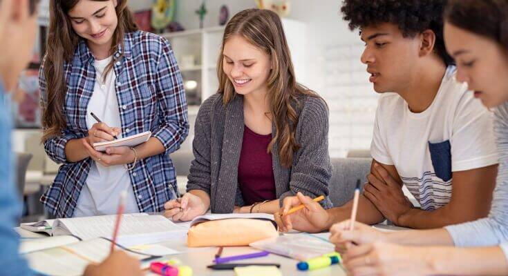
M41 201L56 217L113 214L123 190L126 213L157 212L178 193L169 153L189 131L182 77L167 40L139 31L126 5L50 1L43 142L62 166ZM145 131L134 148L92 146Z

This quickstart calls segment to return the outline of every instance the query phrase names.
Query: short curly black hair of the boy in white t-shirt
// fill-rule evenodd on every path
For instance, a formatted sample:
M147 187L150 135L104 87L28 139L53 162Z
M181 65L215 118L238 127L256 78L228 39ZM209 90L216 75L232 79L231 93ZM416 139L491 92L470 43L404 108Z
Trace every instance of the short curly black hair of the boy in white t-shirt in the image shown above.
M377 23L393 23L404 37L424 30L435 33L435 52L446 63L453 59L446 52L443 38L443 10L446 0L344 0L341 12L350 30Z

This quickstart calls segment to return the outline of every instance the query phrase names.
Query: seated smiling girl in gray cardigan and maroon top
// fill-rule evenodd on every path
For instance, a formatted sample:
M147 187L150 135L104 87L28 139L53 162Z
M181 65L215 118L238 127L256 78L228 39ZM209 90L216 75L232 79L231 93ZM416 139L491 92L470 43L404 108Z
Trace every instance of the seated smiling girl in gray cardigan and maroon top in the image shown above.
M285 197L325 195L328 108L296 82L281 20L249 9L227 23L218 93L198 112L187 193L164 215L188 221L212 213L276 213Z

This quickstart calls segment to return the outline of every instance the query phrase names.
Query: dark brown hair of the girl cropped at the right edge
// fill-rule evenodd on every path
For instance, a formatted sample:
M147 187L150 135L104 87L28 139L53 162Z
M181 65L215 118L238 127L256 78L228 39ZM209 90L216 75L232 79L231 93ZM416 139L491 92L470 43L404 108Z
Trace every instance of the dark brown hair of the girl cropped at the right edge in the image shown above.
M451 0L444 10L445 21L487 37L508 50L508 2L505 0Z

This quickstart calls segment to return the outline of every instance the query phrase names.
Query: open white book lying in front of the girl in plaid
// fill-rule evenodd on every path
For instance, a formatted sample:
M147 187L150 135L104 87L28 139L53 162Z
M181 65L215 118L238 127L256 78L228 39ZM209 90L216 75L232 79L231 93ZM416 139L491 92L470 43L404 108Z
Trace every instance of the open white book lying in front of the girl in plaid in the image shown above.
M53 236L74 235L87 240L97 237L111 239L116 215L96 217L70 217L39 221L36 224L21 224L26 230L37 230L37 227L53 226L51 230L41 230ZM39 226L35 226L39 225ZM135 213L122 215L122 224L118 232L117 243L122 246L154 244L171 239L185 239L187 227L174 224L162 215Z

